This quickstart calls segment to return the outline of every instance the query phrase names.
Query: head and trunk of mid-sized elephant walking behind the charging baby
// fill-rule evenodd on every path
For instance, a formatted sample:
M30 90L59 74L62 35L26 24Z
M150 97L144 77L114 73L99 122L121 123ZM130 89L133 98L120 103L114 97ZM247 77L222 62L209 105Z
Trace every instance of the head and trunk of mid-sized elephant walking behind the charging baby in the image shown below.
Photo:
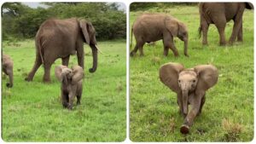
M172 37L178 37L180 40L184 42L184 55L188 55L188 41L189 41L189 33L187 26L183 24L183 22L172 18L166 17L166 28L169 32L171 32Z

